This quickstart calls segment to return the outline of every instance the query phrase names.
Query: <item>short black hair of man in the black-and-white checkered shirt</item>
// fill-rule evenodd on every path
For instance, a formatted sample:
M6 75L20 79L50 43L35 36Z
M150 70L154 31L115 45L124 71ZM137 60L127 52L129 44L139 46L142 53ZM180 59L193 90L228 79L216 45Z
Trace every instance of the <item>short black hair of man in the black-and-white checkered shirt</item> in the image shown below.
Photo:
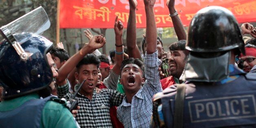
M97 68L99 68L100 60L96 55L88 54L86 55L78 64L75 66L77 68L77 73L79 73L79 69L82 65L86 64L95 64Z

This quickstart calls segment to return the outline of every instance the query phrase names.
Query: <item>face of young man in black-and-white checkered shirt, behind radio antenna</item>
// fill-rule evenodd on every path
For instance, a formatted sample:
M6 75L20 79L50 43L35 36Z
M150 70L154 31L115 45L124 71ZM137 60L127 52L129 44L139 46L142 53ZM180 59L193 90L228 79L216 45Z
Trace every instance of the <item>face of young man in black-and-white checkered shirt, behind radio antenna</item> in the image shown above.
M93 93L93 90L95 86L97 85L98 81L98 68L95 64L84 64L80 67L78 73L75 73L75 79L78 79L79 84L82 83L84 79L86 81L84 82L82 86L83 93L91 94Z

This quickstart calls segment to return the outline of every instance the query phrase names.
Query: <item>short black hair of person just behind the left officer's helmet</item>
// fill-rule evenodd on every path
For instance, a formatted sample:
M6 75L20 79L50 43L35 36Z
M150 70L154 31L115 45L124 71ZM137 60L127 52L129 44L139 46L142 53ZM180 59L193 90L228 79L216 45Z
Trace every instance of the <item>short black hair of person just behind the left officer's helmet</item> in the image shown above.
M55 48L51 49L50 54L55 55L56 57L60 58L60 62L67 61L69 58L68 52L65 49Z

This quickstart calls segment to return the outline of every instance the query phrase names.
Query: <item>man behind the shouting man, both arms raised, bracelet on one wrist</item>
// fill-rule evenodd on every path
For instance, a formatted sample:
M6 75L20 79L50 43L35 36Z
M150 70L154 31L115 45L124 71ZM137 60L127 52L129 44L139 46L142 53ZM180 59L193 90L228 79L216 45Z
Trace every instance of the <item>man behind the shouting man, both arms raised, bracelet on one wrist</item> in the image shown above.
M139 48L136 44L136 7L137 7L137 1L136 0L129 0L130 4L130 12L129 12L129 20L127 24L127 38L126 41L127 43L127 50L128 50L128 55L129 57L133 58L141 58ZM170 14L173 14L175 12L174 8L174 0L171 0L167 2L167 6L169 9ZM178 13L177 13L178 14ZM172 22L174 25L174 30L177 33L178 40L186 40L186 33L184 26L179 18L179 16L172 15ZM147 47L147 42L145 40L146 38L143 39L142 41L142 50L143 53L145 54L146 52L146 47ZM158 58L162 59L162 54L163 54L163 43L161 39L158 37L157 38L157 50L158 50ZM163 63L168 63L168 59L163 61ZM164 64L165 65L165 64ZM168 64L166 64L168 65ZM168 66L161 66L162 73L161 74L161 79L168 77L170 74L168 72Z

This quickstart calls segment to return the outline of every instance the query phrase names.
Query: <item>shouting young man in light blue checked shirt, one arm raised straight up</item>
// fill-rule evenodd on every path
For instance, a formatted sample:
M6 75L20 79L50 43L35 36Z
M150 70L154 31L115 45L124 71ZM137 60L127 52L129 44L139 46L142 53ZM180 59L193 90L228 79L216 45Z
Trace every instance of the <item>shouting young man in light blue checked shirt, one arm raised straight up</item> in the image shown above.
M117 108L117 117L125 128L148 128L152 112L152 96L161 92L158 67L161 64L157 57L157 27L154 19L155 0L144 0L146 10L146 41L147 52L144 66L139 59L129 58L121 65L121 84L124 86L126 97ZM130 5L131 6L131 5Z

